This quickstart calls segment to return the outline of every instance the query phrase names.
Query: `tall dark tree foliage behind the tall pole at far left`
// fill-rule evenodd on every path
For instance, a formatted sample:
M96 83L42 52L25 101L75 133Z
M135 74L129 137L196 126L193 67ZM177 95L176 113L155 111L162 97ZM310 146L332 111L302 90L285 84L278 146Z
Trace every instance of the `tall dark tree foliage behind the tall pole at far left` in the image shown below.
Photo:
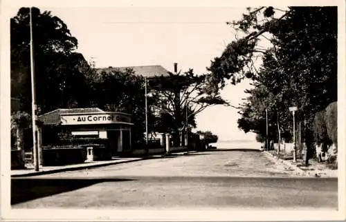
M88 64L74 52L78 41L64 21L51 12L32 8L35 89L40 112L84 106ZM10 20L11 97L21 99L23 111L31 111L30 9L20 8Z

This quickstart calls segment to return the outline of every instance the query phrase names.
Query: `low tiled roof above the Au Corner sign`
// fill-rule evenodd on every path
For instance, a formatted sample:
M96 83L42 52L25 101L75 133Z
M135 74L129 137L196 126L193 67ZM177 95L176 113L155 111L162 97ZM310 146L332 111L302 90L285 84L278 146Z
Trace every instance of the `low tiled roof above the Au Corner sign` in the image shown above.
M100 108L74 108L74 109L57 109L39 116L39 121L44 125L59 125L61 114L80 114L85 112L104 112Z

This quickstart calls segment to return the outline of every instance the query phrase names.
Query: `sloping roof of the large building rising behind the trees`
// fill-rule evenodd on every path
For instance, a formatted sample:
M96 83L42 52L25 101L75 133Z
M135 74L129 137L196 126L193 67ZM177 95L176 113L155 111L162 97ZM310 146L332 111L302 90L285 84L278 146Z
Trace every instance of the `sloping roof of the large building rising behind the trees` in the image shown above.
M168 70L163 68L161 65L142 65L142 66L127 66L127 67L109 67L109 68L97 68L97 72L111 72L111 71L125 71L126 69L134 70L134 74L152 78L152 77L161 77L168 76Z

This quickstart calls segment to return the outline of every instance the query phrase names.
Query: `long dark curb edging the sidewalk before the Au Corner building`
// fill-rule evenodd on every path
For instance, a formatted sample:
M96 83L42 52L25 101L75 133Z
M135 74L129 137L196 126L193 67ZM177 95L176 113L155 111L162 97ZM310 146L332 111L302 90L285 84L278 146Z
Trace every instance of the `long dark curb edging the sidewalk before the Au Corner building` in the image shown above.
M150 159L150 158L140 158L140 159L131 159L128 161L121 161L121 162L114 162L114 163L100 163L100 164L95 164L95 165L80 165L77 167L71 167L71 168L60 168L60 169L55 169L55 170L47 170L47 171L39 171L39 172L29 172L27 174L16 174L16 175L11 175L12 177L24 177L24 176L39 176L39 175L45 175L45 174L55 174L57 172L67 172L67 171L75 171L75 170L86 170L86 169L91 169L91 168L98 168L98 167L104 167L107 165L117 165L121 163L131 163L131 162L136 162L136 161L142 161L145 159Z

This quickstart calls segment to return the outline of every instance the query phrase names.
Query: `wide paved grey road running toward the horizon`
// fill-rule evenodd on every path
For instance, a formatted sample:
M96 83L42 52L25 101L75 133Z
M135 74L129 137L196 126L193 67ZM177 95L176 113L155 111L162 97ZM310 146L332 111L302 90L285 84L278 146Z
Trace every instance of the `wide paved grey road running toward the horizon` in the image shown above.
M301 178L254 150L210 150L12 179L14 208L337 208L337 179Z

